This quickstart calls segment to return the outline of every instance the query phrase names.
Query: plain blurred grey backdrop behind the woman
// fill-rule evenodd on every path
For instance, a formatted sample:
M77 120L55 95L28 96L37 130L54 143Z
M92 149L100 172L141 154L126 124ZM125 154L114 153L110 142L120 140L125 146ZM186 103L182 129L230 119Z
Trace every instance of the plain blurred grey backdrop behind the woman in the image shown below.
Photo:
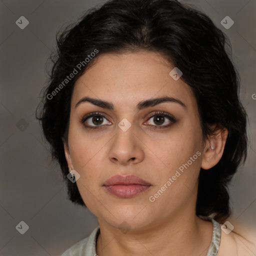
M87 208L67 200L59 167L50 161L35 119L39 92L45 86L44 65L60 24L76 20L81 12L102 0L0 1L0 255L59 255L88 236L97 226ZM194 0L230 38L233 62L240 76L240 98L249 117L248 158L230 185L234 230L256 229L256 0ZM225 29L220 21L230 16ZM25 16L20 29L15 21ZM27 126L28 125L28 126ZM16 225L29 229L20 234ZM235 222L237 221L237 223ZM256 255L256 251L252 253Z

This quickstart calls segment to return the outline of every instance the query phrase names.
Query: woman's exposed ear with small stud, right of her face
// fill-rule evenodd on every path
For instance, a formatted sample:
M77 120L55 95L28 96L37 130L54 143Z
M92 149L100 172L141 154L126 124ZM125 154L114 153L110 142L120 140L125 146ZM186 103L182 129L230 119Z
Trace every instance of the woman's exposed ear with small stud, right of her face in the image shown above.
M214 126L215 132L206 140L203 150L202 169L209 169L216 165L224 151L228 131L226 128L220 127L219 125L215 124Z

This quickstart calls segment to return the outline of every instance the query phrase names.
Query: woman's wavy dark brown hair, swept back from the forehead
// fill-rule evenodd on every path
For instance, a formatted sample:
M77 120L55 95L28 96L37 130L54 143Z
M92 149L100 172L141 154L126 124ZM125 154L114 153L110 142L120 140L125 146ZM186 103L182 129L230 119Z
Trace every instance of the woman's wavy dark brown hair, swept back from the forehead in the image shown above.
M93 57L95 49L98 53ZM76 183L66 177L62 141L68 132L75 81L101 54L136 50L161 53L182 71L181 79L191 86L197 101L204 139L213 132L211 124L227 128L221 159L211 169L200 170L196 202L197 215L213 213L215 220L223 221L230 215L227 184L247 154L247 115L238 98L239 76L223 32L207 15L177 0L110 0L89 9L57 35L57 50L51 55L53 67L37 118L51 145L52 157L60 165L69 199L85 205ZM84 65L79 69L78 63ZM64 84L74 68L77 73ZM59 86L61 83L63 86Z

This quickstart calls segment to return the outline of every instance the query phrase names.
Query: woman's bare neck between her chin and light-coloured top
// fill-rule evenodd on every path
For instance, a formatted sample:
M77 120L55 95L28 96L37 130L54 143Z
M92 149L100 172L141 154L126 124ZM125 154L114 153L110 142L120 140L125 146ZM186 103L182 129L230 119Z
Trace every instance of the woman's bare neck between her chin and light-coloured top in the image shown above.
M128 255L200 255L207 254L212 223L190 215L178 215L161 222L126 232L98 219L100 234L96 242L98 256Z

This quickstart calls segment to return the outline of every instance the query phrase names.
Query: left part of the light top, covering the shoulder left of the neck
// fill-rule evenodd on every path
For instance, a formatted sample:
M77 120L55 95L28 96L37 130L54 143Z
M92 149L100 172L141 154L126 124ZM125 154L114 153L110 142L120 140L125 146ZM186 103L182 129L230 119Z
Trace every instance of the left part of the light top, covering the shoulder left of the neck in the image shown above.
M66 249L61 256L94 256L95 243L99 227L96 227L88 237L78 241L68 249Z

